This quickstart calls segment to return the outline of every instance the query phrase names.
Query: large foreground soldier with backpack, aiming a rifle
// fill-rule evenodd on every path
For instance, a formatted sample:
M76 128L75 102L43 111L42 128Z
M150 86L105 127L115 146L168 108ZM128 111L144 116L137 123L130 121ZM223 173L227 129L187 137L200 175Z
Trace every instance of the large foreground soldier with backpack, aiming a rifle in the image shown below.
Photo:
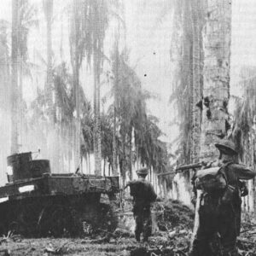
M241 196L247 195L240 180L252 179L256 173L247 166L238 164L234 143L223 140L215 146L219 150L219 159L211 167L221 168L226 186L212 195L202 189L199 227L192 242L190 256L238 255L236 237L241 228Z

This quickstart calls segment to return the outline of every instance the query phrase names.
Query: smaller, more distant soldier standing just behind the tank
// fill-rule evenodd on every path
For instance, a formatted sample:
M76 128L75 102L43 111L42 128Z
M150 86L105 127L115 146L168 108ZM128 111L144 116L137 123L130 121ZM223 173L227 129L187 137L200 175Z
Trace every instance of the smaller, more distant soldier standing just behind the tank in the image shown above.
M135 238L140 241L143 233L143 241L148 241L152 232L151 203L156 200L154 188L145 178L148 168L137 170L138 179L127 183L130 186L130 194L133 197L133 216L136 221Z

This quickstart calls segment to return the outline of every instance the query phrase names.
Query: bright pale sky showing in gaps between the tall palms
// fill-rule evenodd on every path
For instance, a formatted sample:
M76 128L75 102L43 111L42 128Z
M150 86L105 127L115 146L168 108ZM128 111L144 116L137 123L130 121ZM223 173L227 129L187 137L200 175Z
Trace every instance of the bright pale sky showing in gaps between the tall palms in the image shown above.
M33 0L42 8L41 0ZM69 61L68 47L68 20L67 15L61 16L65 2L55 0L53 24L53 48L55 61ZM143 87L155 97L148 102L151 113L160 119L160 128L166 133L163 137L170 142L177 135L175 129L170 129L169 124L173 119L173 111L168 104L172 94L172 63L170 61L170 47L172 39L172 4L166 4L162 0L129 0L125 1L126 37L123 46L130 53L131 67L135 68ZM232 14L232 39L231 39L231 94L239 96L240 88L236 87L239 80L239 72L243 66L256 66L256 2L254 0L233 0ZM170 9L167 11L167 9ZM0 19L11 20L11 1L3 0L0 9ZM38 53L46 56L46 24L43 12L38 13L39 27L32 28L29 37L31 61L38 61ZM62 22L61 22L62 20ZM61 28L62 26L62 28ZM60 44L62 41L61 52ZM108 29L105 40L105 48L109 51L113 44L113 26ZM38 63L42 64L42 63ZM108 67L107 67L108 68ZM27 81L24 86L24 97L31 102L36 95L37 86L44 86L44 72L46 67L38 71L38 78L33 82ZM86 71L81 72L84 83L85 95L92 99L93 83L92 76ZM40 79L42 76L42 79ZM41 81L42 80L42 81ZM34 86L37 84L37 86ZM108 91L108 86L104 89Z

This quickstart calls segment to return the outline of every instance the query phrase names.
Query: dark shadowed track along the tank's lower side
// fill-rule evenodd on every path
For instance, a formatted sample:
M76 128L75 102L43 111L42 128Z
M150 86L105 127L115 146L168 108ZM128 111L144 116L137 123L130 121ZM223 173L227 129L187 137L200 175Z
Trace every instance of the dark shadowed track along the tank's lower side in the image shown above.
M1 235L12 231L24 237L84 236L84 224L94 233L113 232L118 221L109 204L83 195L28 197L0 205Z

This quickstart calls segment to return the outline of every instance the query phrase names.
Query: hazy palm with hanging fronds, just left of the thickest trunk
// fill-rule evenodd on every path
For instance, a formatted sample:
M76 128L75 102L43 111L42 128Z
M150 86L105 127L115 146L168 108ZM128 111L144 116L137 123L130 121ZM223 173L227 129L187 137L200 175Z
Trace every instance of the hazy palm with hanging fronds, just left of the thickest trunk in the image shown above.
M192 13L189 0L175 1L173 22L175 28L172 33L172 59L175 61L176 69L174 72L174 88L170 96L170 103L177 105L177 119L174 123L179 126L179 136L177 139L179 162L190 162L192 160L192 134L194 128L193 119L193 29ZM198 36L198 35L196 35ZM200 61L196 59L195 61ZM195 79L197 82L198 79ZM195 84L198 88L199 84ZM195 94L194 94L195 95ZM192 118L191 118L192 117Z

